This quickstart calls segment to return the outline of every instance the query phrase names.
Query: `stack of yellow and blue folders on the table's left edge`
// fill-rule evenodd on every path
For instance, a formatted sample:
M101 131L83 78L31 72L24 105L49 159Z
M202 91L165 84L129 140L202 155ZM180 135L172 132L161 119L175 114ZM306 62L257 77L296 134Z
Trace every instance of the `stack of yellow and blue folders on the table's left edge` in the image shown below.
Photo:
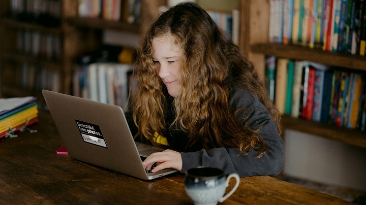
M0 99L0 138L16 136L15 131L24 130L38 122L36 97Z

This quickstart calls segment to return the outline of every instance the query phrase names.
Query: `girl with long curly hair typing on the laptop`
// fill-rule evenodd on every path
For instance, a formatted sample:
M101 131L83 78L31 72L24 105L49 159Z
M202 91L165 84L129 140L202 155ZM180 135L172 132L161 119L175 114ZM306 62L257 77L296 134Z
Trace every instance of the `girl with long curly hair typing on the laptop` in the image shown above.
M141 38L136 65L132 131L169 148L147 157L146 169L280 173L280 114L253 64L201 7L186 2L161 14Z

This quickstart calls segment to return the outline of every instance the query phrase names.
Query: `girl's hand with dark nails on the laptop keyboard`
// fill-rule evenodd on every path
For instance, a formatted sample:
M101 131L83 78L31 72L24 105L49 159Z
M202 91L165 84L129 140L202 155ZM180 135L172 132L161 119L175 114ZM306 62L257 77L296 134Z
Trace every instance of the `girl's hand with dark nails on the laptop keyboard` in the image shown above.
M180 152L173 150L165 150L163 152L153 153L142 162L142 165L144 168L146 168L146 170L150 170L151 166L155 162L157 162L157 166L151 170L153 173L156 173L164 168L175 168L177 170L181 170L182 168Z

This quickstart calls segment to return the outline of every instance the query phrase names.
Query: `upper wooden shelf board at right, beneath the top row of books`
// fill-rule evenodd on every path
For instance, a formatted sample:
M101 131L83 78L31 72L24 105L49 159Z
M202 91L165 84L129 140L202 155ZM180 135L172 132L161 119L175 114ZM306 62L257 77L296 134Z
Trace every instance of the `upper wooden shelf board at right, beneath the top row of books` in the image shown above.
M349 69L366 71L366 56L351 55L339 52L329 52L301 46L261 43L251 46L252 52L294 60L308 60L327 65L347 67Z

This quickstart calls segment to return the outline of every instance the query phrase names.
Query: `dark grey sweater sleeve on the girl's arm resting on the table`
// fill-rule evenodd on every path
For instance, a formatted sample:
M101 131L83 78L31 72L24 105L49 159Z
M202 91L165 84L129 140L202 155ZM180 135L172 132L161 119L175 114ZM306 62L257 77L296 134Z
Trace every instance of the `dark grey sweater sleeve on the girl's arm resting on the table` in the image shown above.
M195 166L216 166L224 169L225 174L237 173L240 177L254 175L278 175L283 167L284 144L277 132L275 121L271 120L270 113L260 101L246 90L237 90L230 98L233 108L247 108L249 110L248 125L260 129L260 136L268 145L265 155L258 158L258 153L252 150L247 155L239 153L238 148L214 148L196 152L181 152L182 169Z

